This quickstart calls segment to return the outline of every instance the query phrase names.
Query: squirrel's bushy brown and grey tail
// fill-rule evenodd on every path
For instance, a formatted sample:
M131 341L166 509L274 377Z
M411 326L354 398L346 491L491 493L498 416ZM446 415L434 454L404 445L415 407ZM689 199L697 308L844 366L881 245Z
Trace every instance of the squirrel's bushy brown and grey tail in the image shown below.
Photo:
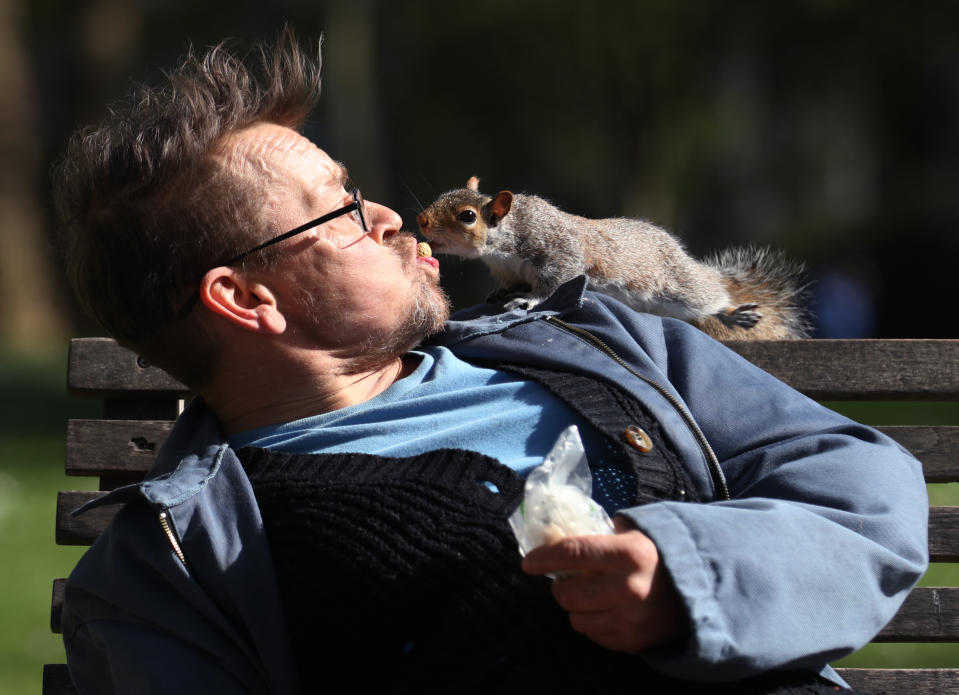
M752 328L724 325L709 318L699 327L719 340L807 338L811 330L805 307L805 266L780 251L749 246L730 248L706 259L719 271L733 306L755 304L762 318Z

